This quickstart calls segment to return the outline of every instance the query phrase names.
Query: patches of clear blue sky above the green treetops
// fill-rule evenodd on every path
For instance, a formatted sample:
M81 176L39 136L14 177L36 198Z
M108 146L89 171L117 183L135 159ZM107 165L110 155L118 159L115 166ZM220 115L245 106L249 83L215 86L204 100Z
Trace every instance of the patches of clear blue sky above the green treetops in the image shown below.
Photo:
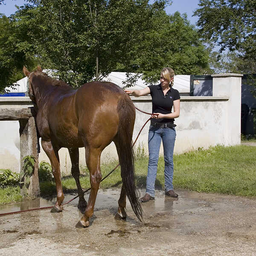
M166 13L173 14L175 12L180 12L181 14L186 13L191 24L195 24L197 17L192 17L193 12L198 8L198 0L173 0L171 6L166 8ZM17 9L15 5L22 6L26 3L25 0L4 0L5 4L0 6L0 13L10 16Z

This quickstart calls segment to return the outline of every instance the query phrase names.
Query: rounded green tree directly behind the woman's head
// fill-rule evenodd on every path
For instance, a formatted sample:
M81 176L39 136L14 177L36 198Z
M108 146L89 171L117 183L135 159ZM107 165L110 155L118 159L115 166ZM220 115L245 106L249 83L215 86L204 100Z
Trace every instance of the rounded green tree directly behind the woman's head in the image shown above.
M137 47L133 72L143 73L149 83L159 80L163 67L172 67L176 74L184 75L208 72L209 52L186 15L154 10L151 24L145 40Z

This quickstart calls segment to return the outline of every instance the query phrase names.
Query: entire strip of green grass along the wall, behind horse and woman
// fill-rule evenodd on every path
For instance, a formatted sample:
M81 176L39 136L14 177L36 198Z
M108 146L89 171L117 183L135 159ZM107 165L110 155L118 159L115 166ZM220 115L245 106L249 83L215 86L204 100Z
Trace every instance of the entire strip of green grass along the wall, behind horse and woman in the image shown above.
M139 154L135 162L136 185L145 188L148 157ZM230 147L216 146L207 150L191 151L174 156L174 178L175 189L188 189L197 192L212 192L247 197L256 196L256 147L237 145ZM107 175L115 166L115 163L103 164L101 166L102 176ZM90 186L87 168L81 169L81 185L83 188ZM164 187L164 160L160 157L158 163L156 188ZM76 183L73 177L62 178L64 192L76 191ZM116 169L100 188L121 187L120 167ZM41 195L43 197L55 195L55 184L53 182L41 182ZM11 188L0 189L0 204L10 201L19 201L18 189L12 188L16 196L8 201L5 194L11 195ZM6 199L7 200L7 199Z

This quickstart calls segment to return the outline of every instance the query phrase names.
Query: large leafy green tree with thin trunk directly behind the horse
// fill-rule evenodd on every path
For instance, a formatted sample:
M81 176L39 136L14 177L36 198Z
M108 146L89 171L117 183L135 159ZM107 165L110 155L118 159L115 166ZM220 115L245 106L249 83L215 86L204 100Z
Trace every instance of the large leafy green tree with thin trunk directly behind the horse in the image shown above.
M34 1L31 1L34 2ZM164 9L168 0L155 1ZM131 49L143 41L151 25L147 0L37 1L17 13L19 26L29 27L44 67L79 86L131 60Z

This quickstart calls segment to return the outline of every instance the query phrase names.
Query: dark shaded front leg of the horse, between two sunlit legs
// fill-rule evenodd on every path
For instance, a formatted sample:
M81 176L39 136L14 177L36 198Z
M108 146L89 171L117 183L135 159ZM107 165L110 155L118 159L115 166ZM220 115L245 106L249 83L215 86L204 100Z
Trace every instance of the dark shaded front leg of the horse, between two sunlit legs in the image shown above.
M79 176L80 176L80 171L79 171L79 149L78 148L69 148L68 149L70 153L70 160L72 163L71 167L71 173L74 179L76 180L76 186L78 190L78 195L79 195L79 202L78 202L78 208L82 213L84 213L84 210L87 206L87 202L84 199L84 192L80 184Z

